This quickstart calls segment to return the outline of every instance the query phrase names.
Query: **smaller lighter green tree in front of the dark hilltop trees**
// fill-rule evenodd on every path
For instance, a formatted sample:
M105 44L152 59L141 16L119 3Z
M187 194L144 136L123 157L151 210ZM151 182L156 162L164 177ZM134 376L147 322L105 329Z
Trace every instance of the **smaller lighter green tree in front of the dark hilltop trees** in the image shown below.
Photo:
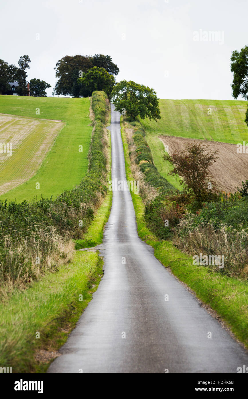
M78 79L78 82L82 85L82 88L90 91L90 95L93 91L102 90L105 91L107 96L110 96L115 85L115 78L104 68L93 67L84 73L83 77Z

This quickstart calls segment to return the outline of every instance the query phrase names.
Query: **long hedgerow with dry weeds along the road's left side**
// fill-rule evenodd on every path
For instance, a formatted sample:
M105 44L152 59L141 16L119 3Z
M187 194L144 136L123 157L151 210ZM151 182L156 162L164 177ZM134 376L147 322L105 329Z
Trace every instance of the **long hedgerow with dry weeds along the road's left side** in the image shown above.
M46 271L70 261L72 239L84 236L107 193L104 124L107 95L92 93L93 132L88 172L80 184L57 198L28 203L0 201L0 290L13 292ZM7 288L7 289L6 289Z

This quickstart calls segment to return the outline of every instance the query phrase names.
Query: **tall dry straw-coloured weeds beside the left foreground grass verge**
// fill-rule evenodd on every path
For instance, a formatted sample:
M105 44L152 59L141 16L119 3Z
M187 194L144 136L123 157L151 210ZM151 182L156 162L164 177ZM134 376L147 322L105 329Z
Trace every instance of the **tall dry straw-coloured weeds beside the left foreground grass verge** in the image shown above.
M0 296L24 289L47 272L71 261L75 250L68 234L62 237L50 225L33 225L29 237L4 236L0 257Z

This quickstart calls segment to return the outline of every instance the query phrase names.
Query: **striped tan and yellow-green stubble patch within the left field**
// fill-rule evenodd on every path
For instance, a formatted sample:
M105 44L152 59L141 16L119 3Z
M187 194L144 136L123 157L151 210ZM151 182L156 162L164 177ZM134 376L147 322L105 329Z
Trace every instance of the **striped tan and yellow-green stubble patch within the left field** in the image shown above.
M60 120L0 114L0 195L37 172L63 126Z

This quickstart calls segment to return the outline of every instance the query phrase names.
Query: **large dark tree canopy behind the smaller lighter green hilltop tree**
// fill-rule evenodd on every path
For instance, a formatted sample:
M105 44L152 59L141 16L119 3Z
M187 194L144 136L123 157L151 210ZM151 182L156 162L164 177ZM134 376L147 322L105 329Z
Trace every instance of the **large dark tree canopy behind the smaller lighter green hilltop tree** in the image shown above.
M112 62L109 55L65 55L56 63L57 82L54 91L57 95L72 95L73 97L89 97L92 92L82 85L78 79L93 67L104 68L109 75L117 75L119 68Z

